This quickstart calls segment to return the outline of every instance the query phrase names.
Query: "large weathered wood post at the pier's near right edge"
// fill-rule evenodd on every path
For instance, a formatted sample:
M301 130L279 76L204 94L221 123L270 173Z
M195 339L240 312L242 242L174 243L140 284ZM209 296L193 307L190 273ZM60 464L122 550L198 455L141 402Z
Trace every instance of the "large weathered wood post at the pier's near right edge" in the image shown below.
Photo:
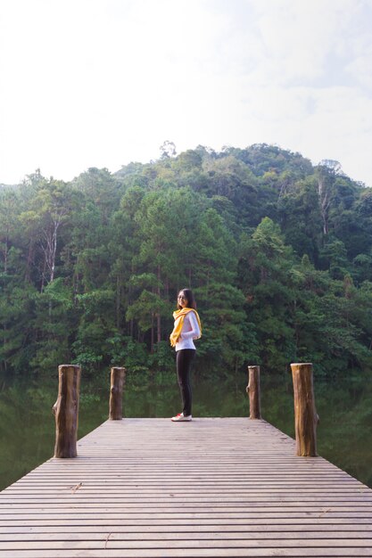
M312 364L291 365L294 394L294 430L296 453L317 456L317 424L319 417L315 408Z

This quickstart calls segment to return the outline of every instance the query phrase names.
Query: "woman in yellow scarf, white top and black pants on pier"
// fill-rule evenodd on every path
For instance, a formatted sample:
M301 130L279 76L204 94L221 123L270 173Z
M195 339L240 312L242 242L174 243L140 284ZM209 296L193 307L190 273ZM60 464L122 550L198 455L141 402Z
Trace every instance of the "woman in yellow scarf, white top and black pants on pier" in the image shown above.
M182 413L172 416L174 423L192 420L192 392L190 384L191 365L195 356L194 339L202 336L202 325L196 312L194 294L190 289L178 293L178 309L173 312L174 329L170 333L170 345L176 349L177 378L182 398Z

